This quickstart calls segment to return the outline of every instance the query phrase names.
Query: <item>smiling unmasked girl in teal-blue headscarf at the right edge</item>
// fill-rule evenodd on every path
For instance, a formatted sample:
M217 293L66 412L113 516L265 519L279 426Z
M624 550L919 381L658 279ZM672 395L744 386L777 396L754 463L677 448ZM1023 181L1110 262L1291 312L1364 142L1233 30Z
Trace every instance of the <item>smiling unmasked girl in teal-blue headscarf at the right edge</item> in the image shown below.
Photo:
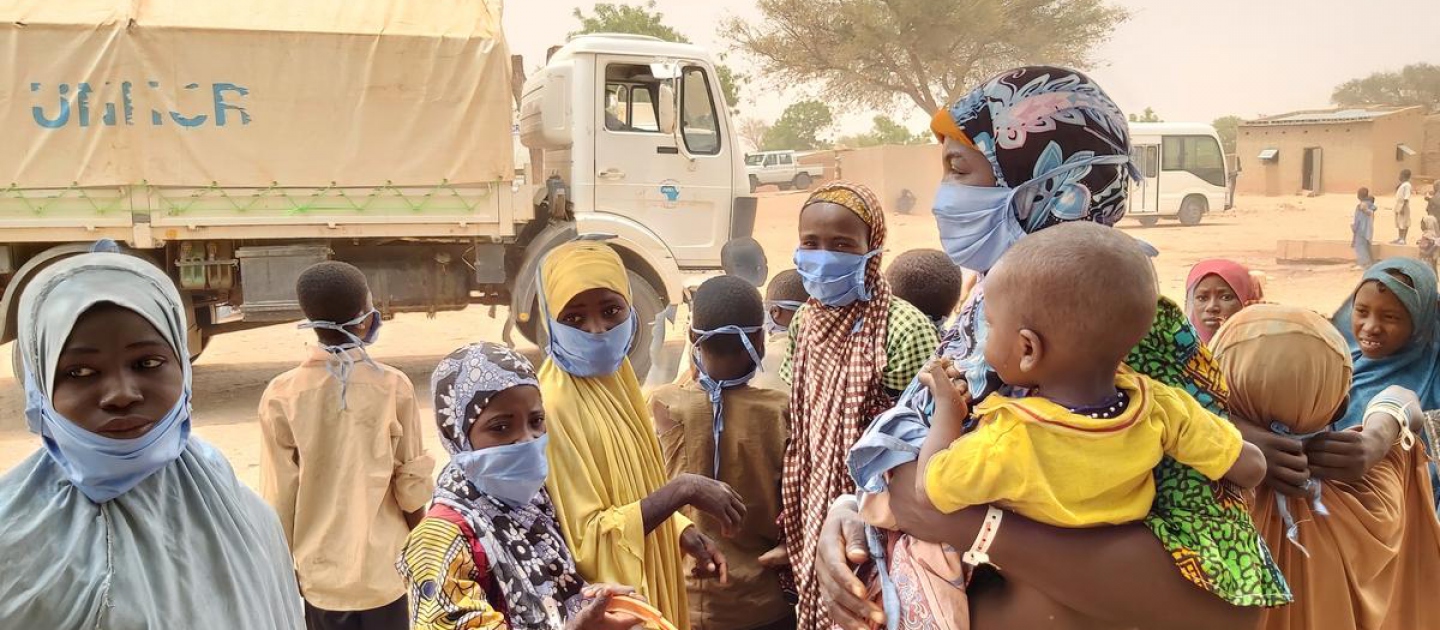
M1381 260L1365 272L1351 299L1335 314L1335 327L1349 342L1355 361L1345 416L1331 433L1305 442L1310 475L1352 480L1390 450L1372 444L1364 432L1351 432L1365 420L1371 398L1390 385L1420 397L1426 410L1440 408L1440 308L1436 272L1408 257ZM1436 444L1427 444L1433 452ZM1440 486L1434 467L1431 486ZM1440 490L1436 490L1440 503Z

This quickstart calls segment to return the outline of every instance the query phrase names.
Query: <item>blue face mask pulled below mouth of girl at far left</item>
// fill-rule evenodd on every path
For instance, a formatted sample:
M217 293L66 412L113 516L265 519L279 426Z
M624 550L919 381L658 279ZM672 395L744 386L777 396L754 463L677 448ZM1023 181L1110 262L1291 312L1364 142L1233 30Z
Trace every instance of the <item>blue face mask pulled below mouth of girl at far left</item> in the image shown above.
M117 440L86 432L62 417L26 378L26 414L40 426L45 450L89 501L104 503L170 465L190 442L190 388L144 436Z

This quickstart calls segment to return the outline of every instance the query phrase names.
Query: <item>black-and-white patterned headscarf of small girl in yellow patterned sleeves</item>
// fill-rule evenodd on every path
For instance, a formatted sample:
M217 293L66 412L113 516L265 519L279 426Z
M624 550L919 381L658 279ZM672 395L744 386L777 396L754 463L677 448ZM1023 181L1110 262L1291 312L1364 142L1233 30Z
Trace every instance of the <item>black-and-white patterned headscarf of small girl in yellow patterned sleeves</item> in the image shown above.
M445 357L431 377L445 450L472 450L469 429L480 413L501 391L520 385L539 387L534 367L503 345L471 344ZM585 581L546 490L528 505L511 506L475 488L452 462L441 470L435 502L464 516L484 547L510 627L550 630L579 610Z

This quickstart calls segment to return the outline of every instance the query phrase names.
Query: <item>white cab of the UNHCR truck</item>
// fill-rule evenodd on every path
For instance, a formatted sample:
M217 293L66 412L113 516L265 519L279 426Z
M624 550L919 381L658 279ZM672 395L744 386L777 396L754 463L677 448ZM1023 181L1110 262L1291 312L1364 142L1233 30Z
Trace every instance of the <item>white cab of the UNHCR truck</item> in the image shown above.
M710 55L628 35L580 36L526 81L520 134L543 151L580 233L615 234L681 270L716 269L750 236L742 152Z

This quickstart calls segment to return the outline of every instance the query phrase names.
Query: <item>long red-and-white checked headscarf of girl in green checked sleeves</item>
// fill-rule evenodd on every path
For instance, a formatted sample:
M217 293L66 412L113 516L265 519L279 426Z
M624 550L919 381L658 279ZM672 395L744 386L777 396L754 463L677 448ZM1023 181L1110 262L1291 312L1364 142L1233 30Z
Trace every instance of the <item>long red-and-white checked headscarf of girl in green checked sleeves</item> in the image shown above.
M870 226L870 249L886 245L886 217L870 188L845 181L811 194L805 207L834 203ZM804 211L804 210L802 210ZM815 577L815 549L829 503L852 492L845 453L870 420L893 404L881 384L890 285L880 259L865 268L868 302L831 308L811 299L795 341L791 443L780 485L782 525L799 591L799 627L828 627Z

